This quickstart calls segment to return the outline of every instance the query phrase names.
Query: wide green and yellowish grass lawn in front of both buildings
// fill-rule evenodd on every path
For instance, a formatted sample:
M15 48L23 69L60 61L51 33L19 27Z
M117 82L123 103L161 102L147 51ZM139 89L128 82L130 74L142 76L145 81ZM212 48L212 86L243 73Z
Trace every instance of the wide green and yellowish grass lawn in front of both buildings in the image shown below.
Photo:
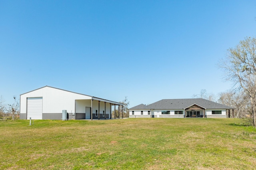
M244 119L0 121L0 169L256 169Z

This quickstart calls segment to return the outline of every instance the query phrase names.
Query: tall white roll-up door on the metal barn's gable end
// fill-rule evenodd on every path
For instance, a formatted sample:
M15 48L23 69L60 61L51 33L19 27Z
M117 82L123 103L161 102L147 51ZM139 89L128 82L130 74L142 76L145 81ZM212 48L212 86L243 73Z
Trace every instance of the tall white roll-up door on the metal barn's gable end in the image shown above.
M42 119L43 98L28 98L28 118Z

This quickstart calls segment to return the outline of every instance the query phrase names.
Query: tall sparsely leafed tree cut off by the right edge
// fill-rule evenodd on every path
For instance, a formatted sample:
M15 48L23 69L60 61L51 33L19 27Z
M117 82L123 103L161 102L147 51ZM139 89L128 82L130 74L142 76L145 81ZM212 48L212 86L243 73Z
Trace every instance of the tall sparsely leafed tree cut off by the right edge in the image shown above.
M228 49L227 58L221 61L220 67L224 68L226 79L248 95L252 123L256 126L256 39L246 37L235 48Z

